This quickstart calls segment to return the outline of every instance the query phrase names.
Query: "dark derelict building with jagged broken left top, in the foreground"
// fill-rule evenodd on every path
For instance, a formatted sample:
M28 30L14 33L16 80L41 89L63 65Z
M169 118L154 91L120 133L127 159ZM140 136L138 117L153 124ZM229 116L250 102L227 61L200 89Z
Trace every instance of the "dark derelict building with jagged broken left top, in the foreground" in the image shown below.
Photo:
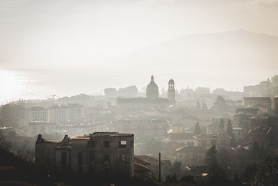
M94 132L46 140L38 135L35 161L57 171L89 173L97 176L133 176L133 134Z

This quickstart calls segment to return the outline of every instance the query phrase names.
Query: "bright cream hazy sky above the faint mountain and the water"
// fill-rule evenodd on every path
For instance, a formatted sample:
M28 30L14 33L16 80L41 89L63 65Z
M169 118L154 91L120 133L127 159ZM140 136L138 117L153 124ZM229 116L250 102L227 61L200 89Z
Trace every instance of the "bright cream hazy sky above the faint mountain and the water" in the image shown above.
M0 0L0 69L117 75L114 59L145 46L237 29L278 36L277 20L278 0Z

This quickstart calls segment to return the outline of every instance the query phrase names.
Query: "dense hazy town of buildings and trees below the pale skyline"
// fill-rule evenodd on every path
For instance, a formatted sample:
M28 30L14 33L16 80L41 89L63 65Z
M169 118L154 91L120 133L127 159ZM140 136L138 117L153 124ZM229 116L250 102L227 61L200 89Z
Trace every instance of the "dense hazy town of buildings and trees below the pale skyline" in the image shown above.
M104 95L3 104L1 180L79 185L93 176L96 185L276 183L278 76L243 92L177 90L177 82L170 79L167 91L158 91L152 75L145 92L129 86L106 88Z

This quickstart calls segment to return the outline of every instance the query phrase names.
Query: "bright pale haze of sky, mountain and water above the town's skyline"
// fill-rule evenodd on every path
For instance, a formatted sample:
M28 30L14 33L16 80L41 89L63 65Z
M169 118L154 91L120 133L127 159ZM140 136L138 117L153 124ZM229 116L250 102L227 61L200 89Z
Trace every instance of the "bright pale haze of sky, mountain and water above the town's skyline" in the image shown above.
M0 81L14 88L1 102L141 90L152 74L161 87L243 91L278 70L277 1L0 3Z

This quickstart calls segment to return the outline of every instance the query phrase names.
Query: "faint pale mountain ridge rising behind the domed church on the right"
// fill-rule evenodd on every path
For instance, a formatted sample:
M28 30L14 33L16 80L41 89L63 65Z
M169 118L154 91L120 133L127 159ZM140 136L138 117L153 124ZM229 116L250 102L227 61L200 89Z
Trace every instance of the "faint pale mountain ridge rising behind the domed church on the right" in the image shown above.
M132 66L135 64L153 67L168 67L187 64L194 67L197 63L234 63L254 65L259 62L278 70L278 37L245 30L222 33L195 33L183 38L143 47L136 52L116 59L117 63ZM190 63L192 61L192 63Z

